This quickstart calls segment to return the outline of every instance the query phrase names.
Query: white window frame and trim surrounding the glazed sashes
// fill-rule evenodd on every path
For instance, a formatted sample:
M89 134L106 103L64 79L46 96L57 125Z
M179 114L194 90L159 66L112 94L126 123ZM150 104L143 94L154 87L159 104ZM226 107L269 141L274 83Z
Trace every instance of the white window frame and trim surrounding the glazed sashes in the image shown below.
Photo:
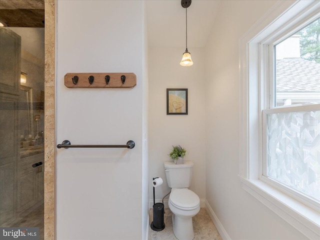
M289 36L297 27L306 25L306 18L316 17L320 1L278 1L239 39L239 177L243 188L269 207L309 239L320 238L320 213L291 194L274 187L263 178L263 114L269 106L269 71L265 58L270 47L261 42L277 41ZM279 37L281 36L281 37ZM273 62L273 60L272 60ZM272 98L272 97L270 97ZM271 104L270 104L271 106ZM303 108L304 109L304 108Z

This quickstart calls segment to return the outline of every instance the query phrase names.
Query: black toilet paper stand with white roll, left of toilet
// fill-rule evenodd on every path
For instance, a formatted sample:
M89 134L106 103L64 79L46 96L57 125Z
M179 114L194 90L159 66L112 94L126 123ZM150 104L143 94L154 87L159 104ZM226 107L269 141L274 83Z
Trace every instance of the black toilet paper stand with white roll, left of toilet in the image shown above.
M164 205L163 203L155 203L154 198L154 187L157 187L162 184L162 179L160 177L152 178L153 186L153 221L151 222L151 229L154 231L161 231L164 229Z

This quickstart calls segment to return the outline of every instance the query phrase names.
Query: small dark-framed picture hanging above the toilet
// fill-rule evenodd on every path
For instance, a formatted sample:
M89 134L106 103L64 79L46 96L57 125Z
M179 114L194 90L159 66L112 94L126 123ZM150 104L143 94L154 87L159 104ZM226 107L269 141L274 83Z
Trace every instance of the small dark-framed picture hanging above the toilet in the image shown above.
M188 114L187 88L166 88L166 114Z

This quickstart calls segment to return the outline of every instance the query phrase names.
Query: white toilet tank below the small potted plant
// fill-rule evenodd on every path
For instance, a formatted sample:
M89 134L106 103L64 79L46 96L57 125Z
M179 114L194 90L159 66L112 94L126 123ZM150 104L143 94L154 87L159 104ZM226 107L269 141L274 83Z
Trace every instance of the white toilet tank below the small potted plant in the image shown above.
M164 162L164 171L168 186L171 188L187 188L191 185L192 161L175 164L173 161Z

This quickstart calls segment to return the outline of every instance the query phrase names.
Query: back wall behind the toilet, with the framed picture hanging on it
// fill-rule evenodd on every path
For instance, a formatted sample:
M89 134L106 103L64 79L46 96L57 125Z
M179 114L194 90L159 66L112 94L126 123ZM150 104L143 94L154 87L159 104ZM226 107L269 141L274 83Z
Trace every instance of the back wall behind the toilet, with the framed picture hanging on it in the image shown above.
M185 49L175 47L149 47L149 181L162 177L163 184L155 188L155 198L170 191L164 173L164 161L172 145L180 144L187 150L185 160L194 162L190 189L205 199L205 73L203 48L188 46L194 64L180 66ZM166 115L166 88L188 88L188 114ZM149 184L150 207L153 204L152 185ZM166 198L167 199L167 198ZM165 201L166 203L167 201Z

